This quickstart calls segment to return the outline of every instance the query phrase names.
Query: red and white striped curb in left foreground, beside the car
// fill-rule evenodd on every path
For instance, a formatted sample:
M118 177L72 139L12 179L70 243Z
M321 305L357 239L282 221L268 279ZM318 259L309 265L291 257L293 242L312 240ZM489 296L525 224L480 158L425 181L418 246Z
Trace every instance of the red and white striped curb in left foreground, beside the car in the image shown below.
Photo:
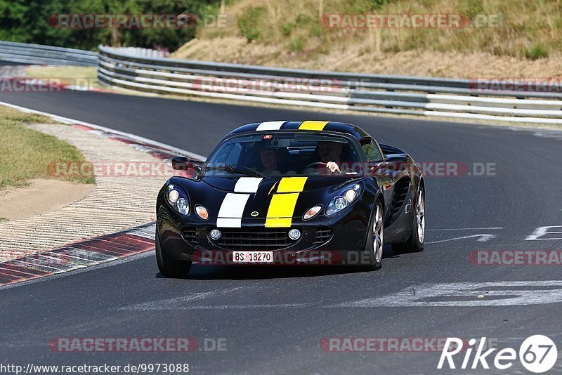
M155 248L155 223L0 263L0 287L86 268Z

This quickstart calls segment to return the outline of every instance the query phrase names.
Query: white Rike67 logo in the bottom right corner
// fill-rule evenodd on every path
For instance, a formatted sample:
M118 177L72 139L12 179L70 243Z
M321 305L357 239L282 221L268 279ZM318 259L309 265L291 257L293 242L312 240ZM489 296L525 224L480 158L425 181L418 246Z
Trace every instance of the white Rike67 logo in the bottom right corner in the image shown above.
M519 357L525 369L540 374L554 367L558 359L558 350L556 349L554 341L542 335L526 338L521 344L521 347L519 347L518 352L513 348L504 348L495 353L495 355L492 355L492 353L494 353L497 348L484 351L486 348L485 337L481 338L479 342L476 341L476 338L471 338L466 348L463 348L464 343L466 343L466 339L462 340L457 337L447 337L437 368L443 369L446 360L450 369L490 369L490 364L488 364L488 361L490 361L496 369L504 370L513 366L517 357ZM450 350L450 348L452 348L452 350ZM473 352L474 356L472 356ZM453 357L459 353L464 353L464 358L460 366L459 360L462 358L462 355L456 358L456 363L453 359ZM445 366L445 368L447 367Z

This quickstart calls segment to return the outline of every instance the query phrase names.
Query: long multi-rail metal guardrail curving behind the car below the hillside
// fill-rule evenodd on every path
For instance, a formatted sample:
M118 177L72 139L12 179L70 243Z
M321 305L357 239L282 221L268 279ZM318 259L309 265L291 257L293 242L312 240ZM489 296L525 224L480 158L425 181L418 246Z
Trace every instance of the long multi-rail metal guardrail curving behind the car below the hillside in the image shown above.
M99 46L98 79L151 93L394 114L562 124L560 87L481 91L468 79L318 72L152 58ZM230 80L230 81L229 81ZM290 92L280 88L308 80ZM270 84L264 89L264 83ZM248 87L250 87L248 89Z

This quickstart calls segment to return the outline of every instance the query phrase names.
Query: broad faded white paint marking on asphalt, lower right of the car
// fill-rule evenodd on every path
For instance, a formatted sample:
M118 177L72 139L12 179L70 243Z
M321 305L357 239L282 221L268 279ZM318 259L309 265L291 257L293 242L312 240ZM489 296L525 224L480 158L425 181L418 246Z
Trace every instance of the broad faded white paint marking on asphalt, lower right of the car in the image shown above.
M483 298L478 298L483 296ZM440 301L441 300L441 301ZM562 302L562 281L420 284L395 294L332 307L510 306Z

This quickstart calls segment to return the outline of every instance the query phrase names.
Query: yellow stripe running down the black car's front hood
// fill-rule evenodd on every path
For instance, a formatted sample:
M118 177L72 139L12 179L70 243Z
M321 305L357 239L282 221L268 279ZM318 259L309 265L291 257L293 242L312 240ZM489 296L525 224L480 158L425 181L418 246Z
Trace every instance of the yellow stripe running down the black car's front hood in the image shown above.
M296 200L303 191L307 177L284 177L271 197L266 217L266 228L291 226Z

